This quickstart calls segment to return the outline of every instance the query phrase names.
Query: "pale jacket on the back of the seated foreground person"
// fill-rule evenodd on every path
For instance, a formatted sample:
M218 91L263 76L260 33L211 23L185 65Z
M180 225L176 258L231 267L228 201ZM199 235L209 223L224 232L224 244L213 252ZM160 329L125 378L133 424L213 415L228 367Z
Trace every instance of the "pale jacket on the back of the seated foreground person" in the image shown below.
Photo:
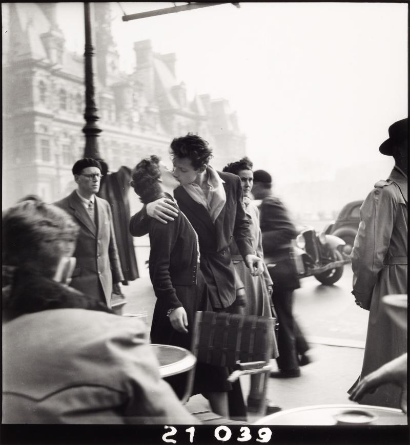
M135 318L87 309L4 323L2 421L198 423L160 378L147 337Z

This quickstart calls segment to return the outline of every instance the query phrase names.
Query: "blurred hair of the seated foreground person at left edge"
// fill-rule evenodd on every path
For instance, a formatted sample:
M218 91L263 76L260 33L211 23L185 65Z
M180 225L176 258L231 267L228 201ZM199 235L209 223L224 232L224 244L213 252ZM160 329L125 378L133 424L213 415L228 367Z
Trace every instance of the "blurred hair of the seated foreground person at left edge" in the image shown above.
M28 197L3 211L3 264L54 277L79 227L64 210Z

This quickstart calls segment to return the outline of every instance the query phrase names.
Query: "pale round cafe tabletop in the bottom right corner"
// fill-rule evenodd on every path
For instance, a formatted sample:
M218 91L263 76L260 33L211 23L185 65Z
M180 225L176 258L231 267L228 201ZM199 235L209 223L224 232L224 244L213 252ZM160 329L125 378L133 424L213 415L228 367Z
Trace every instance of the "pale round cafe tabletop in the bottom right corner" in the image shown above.
M360 411L374 415L376 418L370 425L407 425L407 416L401 410L357 404L293 408L262 417L254 425L340 425L335 416L346 411ZM360 423L348 423L348 425L360 425Z

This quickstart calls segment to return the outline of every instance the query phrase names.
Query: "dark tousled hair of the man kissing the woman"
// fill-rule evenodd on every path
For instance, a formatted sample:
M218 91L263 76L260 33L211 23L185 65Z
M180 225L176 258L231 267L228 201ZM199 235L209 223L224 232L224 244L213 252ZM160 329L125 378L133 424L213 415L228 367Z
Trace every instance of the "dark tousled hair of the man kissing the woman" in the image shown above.
M189 158L195 170L208 165L213 157L212 149L208 142L193 133L174 138L171 142L170 151L172 159Z

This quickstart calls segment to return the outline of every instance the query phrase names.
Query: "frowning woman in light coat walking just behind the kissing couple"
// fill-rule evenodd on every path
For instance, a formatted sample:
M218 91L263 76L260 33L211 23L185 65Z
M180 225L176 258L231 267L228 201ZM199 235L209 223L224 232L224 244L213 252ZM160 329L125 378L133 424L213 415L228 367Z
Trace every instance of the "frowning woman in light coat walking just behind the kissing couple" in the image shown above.
M252 245L255 255L263 260L262 249L262 233L259 225L259 210L251 201L251 190L253 186L253 163L247 157L244 157L236 162L231 162L223 167L223 172L233 173L239 176L242 184L243 200L242 205L250 222L250 229L252 233ZM249 268L243 262L242 256L239 254L236 242L233 241L230 247L232 261L238 272L239 279L244 285L246 305L238 307L238 313L248 315L259 315L265 317L276 317L276 313L272 304L273 282L268 272L268 268L263 263L263 274L253 277ZM273 315L275 314L275 315ZM274 345L274 357L277 355L277 345ZM258 412L261 402L263 381L261 381L260 374L251 375L251 389L248 396L248 411ZM273 405L272 402L266 401L267 414L280 411L280 408Z

